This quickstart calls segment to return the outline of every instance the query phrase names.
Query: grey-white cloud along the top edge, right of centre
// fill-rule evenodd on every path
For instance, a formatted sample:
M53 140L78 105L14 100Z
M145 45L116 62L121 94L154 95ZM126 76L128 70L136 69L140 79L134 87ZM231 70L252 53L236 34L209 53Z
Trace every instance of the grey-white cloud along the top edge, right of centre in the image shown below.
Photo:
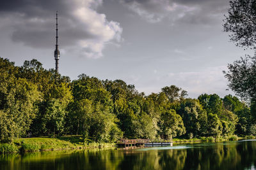
M156 23L168 18L174 22L209 24L223 15L228 1L215 0L118 0L148 22Z

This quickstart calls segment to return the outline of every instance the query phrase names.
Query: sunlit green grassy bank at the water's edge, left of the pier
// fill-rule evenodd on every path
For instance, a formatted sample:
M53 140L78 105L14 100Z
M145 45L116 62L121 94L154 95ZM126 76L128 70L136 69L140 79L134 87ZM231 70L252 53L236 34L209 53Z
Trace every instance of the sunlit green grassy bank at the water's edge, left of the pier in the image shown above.
M60 138L19 138L13 143L0 143L0 153L40 152L47 150L70 150L85 148L110 148L115 143L83 143L80 136Z

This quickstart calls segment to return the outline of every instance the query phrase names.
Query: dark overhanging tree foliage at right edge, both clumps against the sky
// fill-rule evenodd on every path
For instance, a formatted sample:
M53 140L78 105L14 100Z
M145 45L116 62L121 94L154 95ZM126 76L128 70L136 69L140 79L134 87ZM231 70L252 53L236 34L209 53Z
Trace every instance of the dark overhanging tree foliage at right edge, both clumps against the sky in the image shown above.
M237 46L256 49L256 1L232 0L228 15L225 16L224 31L232 32L231 41ZM256 58L246 56L228 64L225 77L230 81L228 87L237 96L248 101L256 101Z

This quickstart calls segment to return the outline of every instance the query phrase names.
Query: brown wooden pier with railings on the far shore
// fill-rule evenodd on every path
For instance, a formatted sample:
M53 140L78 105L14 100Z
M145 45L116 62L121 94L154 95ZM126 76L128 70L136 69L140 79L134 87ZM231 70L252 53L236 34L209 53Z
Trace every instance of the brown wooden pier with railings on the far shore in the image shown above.
M119 139L116 145L122 148L136 148L144 146L172 146L170 140L165 139Z

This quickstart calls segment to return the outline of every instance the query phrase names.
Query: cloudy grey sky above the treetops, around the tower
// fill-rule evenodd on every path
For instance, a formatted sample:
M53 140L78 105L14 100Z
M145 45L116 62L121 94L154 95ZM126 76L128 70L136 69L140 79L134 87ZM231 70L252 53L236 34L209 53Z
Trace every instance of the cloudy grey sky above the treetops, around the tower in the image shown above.
M0 57L60 74L124 80L150 94L176 85L188 97L233 94L223 70L250 54L223 32L229 0L8 0L0 6Z

